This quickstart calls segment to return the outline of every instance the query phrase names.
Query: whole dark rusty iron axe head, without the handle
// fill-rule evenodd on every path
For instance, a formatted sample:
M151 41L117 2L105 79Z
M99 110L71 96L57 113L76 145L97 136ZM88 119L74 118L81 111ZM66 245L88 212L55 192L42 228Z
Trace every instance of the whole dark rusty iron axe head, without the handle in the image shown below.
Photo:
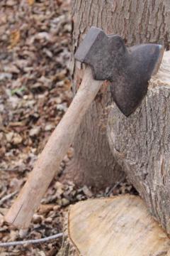
M113 100L128 117L146 95L163 53L163 46L152 43L127 48L120 36L91 27L74 57L91 66L94 79L111 81Z

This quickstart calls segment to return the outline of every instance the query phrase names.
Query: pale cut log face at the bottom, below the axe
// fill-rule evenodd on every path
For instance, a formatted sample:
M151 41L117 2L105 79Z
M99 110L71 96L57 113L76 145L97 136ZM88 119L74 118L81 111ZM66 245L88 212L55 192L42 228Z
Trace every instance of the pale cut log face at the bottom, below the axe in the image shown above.
M168 256L170 252L169 238L139 196L77 203L69 210L68 234L70 242L64 246L74 256ZM63 247L61 252L65 251Z

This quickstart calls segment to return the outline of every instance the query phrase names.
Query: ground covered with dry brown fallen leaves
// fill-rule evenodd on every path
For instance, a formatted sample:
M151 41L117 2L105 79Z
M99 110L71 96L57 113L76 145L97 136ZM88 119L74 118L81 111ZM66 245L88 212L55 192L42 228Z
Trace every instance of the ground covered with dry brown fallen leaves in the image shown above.
M26 233L3 216L26 181L38 154L72 100L69 77L69 0L0 1L0 240L45 238L62 232L63 214L86 198L134 193L126 181L97 194L54 178ZM60 166L72 157L72 149ZM6 196L9 195L7 198ZM62 238L1 248L0 255L57 255Z

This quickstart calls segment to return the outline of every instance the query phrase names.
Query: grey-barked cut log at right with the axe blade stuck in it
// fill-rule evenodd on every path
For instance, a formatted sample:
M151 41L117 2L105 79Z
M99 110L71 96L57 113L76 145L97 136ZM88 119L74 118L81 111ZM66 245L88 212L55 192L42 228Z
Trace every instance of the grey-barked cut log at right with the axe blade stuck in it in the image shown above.
M113 156L170 233L170 51L135 113L127 118L113 104L108 140Z

